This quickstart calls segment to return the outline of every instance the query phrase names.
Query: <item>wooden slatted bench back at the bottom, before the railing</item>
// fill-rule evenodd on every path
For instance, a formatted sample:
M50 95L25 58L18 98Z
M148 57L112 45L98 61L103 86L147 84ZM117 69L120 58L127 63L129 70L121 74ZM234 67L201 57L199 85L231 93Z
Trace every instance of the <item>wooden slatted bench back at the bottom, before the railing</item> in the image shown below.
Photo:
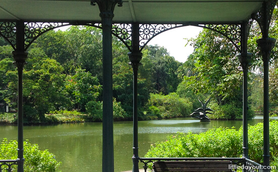
M200 161L155 161L155 172L164 171L233 171L230 169L231 161L228 160L200 160Z

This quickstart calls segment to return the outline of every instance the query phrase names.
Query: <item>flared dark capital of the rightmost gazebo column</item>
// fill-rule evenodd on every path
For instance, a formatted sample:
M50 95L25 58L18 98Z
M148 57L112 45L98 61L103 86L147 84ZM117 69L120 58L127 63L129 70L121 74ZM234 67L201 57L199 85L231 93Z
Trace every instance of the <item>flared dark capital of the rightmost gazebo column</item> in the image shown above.
M257 40L258 48L262 53L262 60L264 62L269 62L269 56L271 50L275 46L276 39L271 37L264 37Z

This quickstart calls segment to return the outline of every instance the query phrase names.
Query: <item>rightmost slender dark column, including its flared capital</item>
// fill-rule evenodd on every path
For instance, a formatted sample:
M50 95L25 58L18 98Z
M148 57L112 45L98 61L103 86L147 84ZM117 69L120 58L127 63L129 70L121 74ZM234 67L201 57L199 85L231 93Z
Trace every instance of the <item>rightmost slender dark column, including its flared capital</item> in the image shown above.
M268 67L271 50L276 39L264 37L257 40L263 60L263 165L269 166L269 99L268 99ZM270 169L264 169L270 171Z

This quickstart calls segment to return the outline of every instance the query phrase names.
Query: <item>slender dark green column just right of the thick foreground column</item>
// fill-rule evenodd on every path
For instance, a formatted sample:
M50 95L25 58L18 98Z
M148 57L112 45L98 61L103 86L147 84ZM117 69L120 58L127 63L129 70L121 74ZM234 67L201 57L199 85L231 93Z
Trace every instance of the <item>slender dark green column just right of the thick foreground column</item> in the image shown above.
M142 59L142 53L140 52L139 45L139 24L132 24L132 52L128 53L130 65L133 68L133 172L139 172L138 162L138 101L137 101L137 75L138 67L140 66L140 61Z

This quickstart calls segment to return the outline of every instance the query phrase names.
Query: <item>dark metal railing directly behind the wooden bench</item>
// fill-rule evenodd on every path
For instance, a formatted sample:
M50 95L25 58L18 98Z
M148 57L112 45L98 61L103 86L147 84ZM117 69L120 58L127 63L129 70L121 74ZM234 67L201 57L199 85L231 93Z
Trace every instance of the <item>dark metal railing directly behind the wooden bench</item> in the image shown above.
M231 170L237 171L237 166L243 166L246 159L243 158L139 158L140 162L144 163L143 168L145 172L147 169L151 169L153 162L155 161L204 161L204 160L228 160L231 161ZM251 171L250 171L251 172Z

